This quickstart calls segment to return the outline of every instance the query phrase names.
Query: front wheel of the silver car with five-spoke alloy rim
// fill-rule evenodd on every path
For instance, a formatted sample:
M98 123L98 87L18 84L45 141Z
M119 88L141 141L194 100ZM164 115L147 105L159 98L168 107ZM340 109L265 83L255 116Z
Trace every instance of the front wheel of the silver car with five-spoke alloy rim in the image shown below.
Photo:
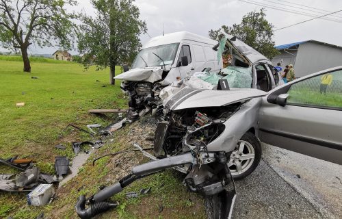
M250 175L259 165L261 153L258 138L251 132L245 133L229 157L228 166L233 179L244 179Z

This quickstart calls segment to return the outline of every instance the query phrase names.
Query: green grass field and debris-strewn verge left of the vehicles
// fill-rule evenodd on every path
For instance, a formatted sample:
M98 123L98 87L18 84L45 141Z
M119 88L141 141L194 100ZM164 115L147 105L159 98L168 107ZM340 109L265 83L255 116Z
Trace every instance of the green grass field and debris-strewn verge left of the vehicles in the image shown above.
M90 115L88 110L124 108L127 99L120 91L120 81L116 86L108 84L108 70L96 71L92 67L84 71L78 64L42 58L32 60L31 67L31 73L23 73L22 62L0 56L0 157L31 157L36 159L40 170L53 173L55 156L73 158L70 142L89 140L89 136L81 132L61 133L64 127L68 123L83 128L93 123L108 125L118 118ZM38 79L31 79L32 76ZM19 102L24 102L25 106L16 107ZM133 140L141 141L144 137L140 134L147 133L147 129L139 124L133 123L117 131L114 142L96 150L90 159L127 149ZM60 143L66 144L65 151L55 149ZM0 192L0 218L36 218L41 211L47 218L77 218L74 205L79 195L88 197L101 185L110 185L126 175L130 165L148 162L141 155L115 158L122 160L122 164L116 164L116 159L110 157L101 159L96 166L87 162L79 169L77 177L57 190L53 203L45 207L27 206L25 193ZM0 166L2 172L14 170ZM98 218L205 218L202 198L187 192L181 180L179 174L168 170L137 181L124 192L139 192L140 188L148 187L152 192L133 199L126 198L124 192L118 194L114 200L120 202L119 207Z

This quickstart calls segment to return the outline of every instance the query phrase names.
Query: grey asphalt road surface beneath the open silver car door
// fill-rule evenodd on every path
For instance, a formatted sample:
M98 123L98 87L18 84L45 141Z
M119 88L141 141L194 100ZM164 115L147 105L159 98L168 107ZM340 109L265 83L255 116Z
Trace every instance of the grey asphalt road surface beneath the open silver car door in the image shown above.
M236 181L233 218L342 218L342 166L263 144L263 159Z

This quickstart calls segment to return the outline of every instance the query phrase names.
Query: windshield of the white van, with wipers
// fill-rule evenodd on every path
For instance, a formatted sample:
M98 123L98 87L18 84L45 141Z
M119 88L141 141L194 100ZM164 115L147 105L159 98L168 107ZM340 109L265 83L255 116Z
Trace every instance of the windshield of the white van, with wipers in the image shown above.
M176 42L172 44L164 44L157 47L142 49L139 53L137 53L131 69L145 68L151 66L163 66L163 61L165 65L173 64L178 47L179 42ZM163 61L161 61L158 56L161 57Z

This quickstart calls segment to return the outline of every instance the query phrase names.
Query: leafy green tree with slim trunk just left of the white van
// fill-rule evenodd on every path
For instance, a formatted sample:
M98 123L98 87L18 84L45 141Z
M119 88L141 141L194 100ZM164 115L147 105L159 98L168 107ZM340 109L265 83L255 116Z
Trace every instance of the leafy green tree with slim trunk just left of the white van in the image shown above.
M96 16L82 16L79 32L79 52L83 64L110 67L109 81L115 83L115 66L129 62L141 47L141 34L146 32L145 21L134 0L92 0Z

